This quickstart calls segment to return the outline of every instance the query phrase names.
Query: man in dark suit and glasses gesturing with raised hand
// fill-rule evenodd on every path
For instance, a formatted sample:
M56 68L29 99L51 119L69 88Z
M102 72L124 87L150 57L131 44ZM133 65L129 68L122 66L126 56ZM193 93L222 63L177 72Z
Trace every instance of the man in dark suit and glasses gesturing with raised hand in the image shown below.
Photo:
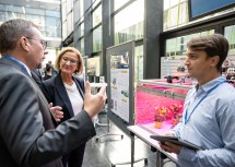
M106 93L91 95L85 85L84 109L60 123L33 81L46 41L32 22L11 20L0 26L0 166L62 167L60 157L95 135L92 118L104 107Z

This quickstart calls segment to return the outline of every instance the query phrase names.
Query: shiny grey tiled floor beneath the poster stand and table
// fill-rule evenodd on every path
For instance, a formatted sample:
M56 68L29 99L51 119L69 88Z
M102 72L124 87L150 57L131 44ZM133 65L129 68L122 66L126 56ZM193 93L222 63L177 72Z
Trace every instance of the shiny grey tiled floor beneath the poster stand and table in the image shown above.
M107 115L99 114L98 122L106 123ZM111 123L111 122L110 122ZM96 138L103 134L107 134L107 127L96 127ZM120 135L107 135L99 138L96 141L96 138L93 138L86 143L85 155L83 159L82 167L130 167L128 165L118 165L121 163L130 162L130 138L121 132L114 123L110 124L110 134L122 134L121 140ZM144 162L141 160L134 164L134 167L155 167L156 165L156 155L154 152L151 152L150 147L143 143L141 140L136 139L134 141L134 155L136 158L148 158L148 164L144 165ZM114 167L113 166L113 167Z

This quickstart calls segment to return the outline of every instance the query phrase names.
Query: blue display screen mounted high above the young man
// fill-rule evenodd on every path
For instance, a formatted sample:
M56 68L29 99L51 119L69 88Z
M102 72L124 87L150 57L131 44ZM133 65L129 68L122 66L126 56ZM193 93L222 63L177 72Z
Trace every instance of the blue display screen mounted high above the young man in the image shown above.
M188 0L189 19L196 20L235 5L235 0Z

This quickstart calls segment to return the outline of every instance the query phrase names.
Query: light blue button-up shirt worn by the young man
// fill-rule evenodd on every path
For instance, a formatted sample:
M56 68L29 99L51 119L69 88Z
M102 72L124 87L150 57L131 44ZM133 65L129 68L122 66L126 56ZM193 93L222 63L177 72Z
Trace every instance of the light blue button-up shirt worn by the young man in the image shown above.
M225 80L219 76L188 93L183 119L173 133L204 150L183 147L178 155L180 167L235 167L235 88Z

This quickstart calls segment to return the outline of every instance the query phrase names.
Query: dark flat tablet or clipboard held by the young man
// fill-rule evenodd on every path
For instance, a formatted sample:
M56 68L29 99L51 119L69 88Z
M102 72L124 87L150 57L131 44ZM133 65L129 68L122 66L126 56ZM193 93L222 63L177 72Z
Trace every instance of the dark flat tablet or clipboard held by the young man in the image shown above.
M174 144L178 144L178 145L181 145L181 146L186 146L188 148L191 148L191 150L203 150L202 147L193 144L193 143L190 143L188 141L185 141L185 140L181 140L181 139L178 139L177 136L168 136L168 135L150 135L151 139L154 139L156 141L160 141L160 142L171 142L171 143L174 143Z

